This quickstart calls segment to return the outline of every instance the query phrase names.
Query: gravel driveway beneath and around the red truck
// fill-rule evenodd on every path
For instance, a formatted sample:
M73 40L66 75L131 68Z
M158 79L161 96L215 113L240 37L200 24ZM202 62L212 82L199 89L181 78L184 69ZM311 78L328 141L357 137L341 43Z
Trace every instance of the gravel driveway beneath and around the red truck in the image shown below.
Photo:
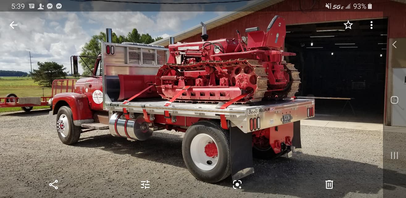
M254 159L255 174L233 189L196 180L186 169L183 133L157 131L147 141L83 133L62 144L48 110L0 115L0 197L382 197L382 132L302 126L302 153ZM361 143L361 144L360 144ZM49 186L54 180L58 189ZM148 180L151 188L141 189ZM333 189L325 181L333 180Z

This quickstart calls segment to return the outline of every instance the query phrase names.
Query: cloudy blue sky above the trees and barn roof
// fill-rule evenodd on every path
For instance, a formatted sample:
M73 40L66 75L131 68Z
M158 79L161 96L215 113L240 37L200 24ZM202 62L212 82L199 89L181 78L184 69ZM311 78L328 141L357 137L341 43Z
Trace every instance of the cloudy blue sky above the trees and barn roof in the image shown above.
M0 12L0 70L29 72L37 62L55 61L69 68L92 35L106 28L127 35L133 28L153 38L168 36L225 12ZM9 24L14 21L15 29ZM81 71L80 71L81 72Z

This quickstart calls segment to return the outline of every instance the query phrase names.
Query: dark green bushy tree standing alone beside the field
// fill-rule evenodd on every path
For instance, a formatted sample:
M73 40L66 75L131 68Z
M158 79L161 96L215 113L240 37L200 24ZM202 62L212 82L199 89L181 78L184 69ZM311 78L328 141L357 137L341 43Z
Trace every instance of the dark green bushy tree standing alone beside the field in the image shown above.
M30 74L34 82L38 82L39 85L44 87L51 87L52 81L55 79L64 79L66 78L67 72L66 67L59 65L56 62L38 62L38 70L33 70Z

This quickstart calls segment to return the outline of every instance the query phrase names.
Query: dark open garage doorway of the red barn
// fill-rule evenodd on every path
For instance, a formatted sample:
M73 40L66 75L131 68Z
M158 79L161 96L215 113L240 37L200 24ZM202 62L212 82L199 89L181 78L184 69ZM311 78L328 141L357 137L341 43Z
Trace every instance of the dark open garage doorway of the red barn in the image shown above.
M297 54L287 59L302 79L296 95L353 98L344 109L346 100L316 99L317 119L383 123L387 26L387 19L287 26L285 50Z

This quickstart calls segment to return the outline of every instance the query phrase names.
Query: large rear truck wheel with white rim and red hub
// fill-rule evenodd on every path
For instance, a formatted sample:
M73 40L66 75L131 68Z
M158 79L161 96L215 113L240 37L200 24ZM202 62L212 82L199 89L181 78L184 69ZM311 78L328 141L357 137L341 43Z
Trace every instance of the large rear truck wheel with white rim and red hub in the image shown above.
M203 120L188 128L182 141L183 159L197 179L216 183L231 174L229 131Z

